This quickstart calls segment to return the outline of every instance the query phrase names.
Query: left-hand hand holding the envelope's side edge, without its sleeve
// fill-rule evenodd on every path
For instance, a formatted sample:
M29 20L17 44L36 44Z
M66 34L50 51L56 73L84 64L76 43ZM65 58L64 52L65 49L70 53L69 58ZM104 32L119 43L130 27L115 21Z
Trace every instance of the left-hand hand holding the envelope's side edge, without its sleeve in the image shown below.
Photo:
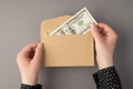
M21 73L22 83L35 86L42 59L42 43L25 46L19 53L17 62Z

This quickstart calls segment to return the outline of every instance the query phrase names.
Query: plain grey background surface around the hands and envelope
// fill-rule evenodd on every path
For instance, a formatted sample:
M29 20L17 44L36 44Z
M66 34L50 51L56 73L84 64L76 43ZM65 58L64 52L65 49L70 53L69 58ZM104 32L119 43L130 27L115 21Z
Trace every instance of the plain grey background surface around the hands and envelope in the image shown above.
M115 67L123 89L133 88L133 0L0 0L0 88L20 88L16 56L27 43L39 41L42 20L83 7L117 32ZM39 82L43 89L94 89L95 71L96 67L41 68Z

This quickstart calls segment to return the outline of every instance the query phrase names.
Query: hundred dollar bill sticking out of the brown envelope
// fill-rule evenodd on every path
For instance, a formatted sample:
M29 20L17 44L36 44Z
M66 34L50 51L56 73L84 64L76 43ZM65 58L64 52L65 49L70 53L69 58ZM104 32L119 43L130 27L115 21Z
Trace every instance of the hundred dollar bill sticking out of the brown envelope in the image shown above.
M73 17L57 28L52 34L85 34L92 23L98 23L86 8L81 9Z

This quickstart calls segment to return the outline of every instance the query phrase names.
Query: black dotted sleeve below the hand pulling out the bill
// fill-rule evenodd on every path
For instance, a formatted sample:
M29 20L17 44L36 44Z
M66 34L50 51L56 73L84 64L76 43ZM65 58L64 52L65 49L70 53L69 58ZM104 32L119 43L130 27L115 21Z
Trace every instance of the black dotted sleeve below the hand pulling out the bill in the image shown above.
M122 89L119 75L114 66L93 73L98 89Z

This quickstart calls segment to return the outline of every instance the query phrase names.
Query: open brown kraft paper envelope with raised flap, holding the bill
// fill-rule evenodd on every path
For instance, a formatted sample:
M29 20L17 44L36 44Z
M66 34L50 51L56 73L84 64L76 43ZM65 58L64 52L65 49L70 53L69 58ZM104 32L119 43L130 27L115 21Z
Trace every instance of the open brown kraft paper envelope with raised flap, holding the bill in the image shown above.
M44 67L94 66L93 37L85 34L49 36L71 16L63 16L41 22L41 42L44 44Z

